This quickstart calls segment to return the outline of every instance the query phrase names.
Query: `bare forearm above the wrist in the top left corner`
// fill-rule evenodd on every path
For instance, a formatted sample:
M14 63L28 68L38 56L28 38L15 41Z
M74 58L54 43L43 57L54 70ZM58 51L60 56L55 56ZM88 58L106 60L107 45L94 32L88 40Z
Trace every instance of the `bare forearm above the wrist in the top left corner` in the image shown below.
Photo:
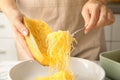
M12 9L17 9L15 0L0 0L0 9L5 14L10 13Z

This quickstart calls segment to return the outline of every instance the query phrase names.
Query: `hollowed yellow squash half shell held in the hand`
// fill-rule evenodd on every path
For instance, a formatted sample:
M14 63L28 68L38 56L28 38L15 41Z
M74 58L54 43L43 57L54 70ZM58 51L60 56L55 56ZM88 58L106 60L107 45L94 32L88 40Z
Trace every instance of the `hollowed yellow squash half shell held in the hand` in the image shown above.
M48 66L49 56L47 54L46 37L52 32L51 28L42 20L32 20L24 17L24 24L29 30L29 35L25 37L33 57L40 64Z

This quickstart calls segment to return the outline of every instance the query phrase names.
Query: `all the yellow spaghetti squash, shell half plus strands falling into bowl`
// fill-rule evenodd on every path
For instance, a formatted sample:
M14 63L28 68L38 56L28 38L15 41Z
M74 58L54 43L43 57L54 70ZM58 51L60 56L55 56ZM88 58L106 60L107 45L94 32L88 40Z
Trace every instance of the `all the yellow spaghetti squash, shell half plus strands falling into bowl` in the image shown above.
M70 51L74 38L69 31L53 32L42 20L32 20L24 17L24 23L29 29L26 42L34 58L42 65L50 66L57 72L48 77L36 80L74 80L71 71L67 71Z

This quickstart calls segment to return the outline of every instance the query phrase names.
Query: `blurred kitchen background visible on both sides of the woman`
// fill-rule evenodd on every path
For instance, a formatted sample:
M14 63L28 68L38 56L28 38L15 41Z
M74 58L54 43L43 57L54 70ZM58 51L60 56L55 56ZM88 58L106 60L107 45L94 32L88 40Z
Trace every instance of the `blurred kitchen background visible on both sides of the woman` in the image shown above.
M113 0L109 0L113 1ZM115 15L115 23L105 27L107 50L120 49L120 0L108 3ZM0 12L0 61L17 60L12 30L7 17Z

